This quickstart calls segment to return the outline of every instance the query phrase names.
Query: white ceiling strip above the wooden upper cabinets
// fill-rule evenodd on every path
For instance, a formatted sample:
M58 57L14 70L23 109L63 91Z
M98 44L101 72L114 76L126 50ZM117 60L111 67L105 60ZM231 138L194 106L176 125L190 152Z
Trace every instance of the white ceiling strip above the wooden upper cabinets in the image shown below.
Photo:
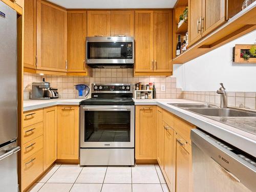
M173 8L177 0L50 0L67 9Z

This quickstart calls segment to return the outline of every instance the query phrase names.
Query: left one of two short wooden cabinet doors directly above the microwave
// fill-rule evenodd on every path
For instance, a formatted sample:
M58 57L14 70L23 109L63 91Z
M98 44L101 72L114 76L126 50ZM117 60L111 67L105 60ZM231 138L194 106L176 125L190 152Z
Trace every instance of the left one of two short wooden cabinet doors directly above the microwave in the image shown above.
M88 11L87 14L89 37L110 36L110 11Z

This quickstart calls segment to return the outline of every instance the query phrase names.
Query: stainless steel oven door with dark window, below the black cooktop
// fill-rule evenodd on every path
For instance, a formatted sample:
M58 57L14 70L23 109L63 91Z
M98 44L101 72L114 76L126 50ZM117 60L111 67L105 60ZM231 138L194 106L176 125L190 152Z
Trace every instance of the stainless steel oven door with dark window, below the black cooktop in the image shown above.
M80 147L134 147L134 105L82 105Z

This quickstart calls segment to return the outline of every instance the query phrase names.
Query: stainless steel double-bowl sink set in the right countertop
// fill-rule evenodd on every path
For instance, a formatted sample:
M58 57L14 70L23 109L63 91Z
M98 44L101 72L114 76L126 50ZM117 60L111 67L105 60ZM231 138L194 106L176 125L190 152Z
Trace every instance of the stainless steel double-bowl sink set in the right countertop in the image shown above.
M214 117L256 117L256 113L247 112L239 109L232 108L218 108L218 106L213 104L204 104L204 103L177 103L170 105L177 106L179 108L185 109L204 116L214 116Z

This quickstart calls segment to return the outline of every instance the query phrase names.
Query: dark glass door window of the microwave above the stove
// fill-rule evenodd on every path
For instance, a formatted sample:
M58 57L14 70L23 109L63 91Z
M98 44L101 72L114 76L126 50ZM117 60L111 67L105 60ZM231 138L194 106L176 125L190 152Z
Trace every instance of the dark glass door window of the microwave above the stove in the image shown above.
M87 59L126 59L126 42L87 42Z

